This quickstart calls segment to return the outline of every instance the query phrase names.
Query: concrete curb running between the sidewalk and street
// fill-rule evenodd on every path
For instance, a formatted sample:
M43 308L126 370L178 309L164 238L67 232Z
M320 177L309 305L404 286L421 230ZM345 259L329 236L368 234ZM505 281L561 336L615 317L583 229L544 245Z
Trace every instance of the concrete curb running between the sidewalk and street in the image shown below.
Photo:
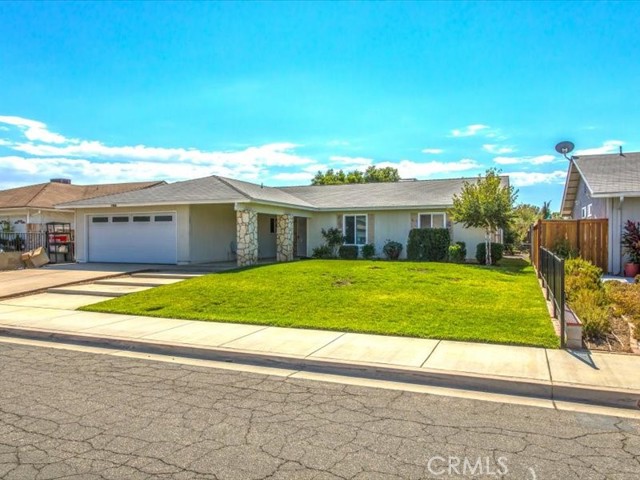
M248 364L272 368L286 368L316 373L415 383L460 390L472 390L521 397L534 397L564 402L585 403L637 410L640 391L589 387L531 379L475 375L466 372L391 366L374 363L341 362L331 359L285 356L224 347L201 347L184 344L105 337L24 327L0 325L0 334L38 340L53 340L95 347L132 350L177 357L190 357Z

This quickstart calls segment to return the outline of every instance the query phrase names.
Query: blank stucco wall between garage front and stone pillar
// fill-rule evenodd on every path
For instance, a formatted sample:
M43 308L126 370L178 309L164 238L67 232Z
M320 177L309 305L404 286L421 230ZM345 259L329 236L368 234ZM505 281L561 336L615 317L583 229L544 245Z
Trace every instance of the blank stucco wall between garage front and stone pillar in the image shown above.
M191 263L229 260L231 242L236 239L233 205L191 205L189 212Z

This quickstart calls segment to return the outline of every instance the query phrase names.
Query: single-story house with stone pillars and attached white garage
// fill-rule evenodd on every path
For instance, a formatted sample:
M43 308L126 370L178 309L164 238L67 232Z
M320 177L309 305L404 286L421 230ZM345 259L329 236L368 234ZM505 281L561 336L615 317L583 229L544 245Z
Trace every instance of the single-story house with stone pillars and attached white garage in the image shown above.
M310 256L330 227L341 228L347 244L375 244L379 255L386 240L399 241L403 257L412 228L447 227L471 258L483 231L446 214L464 181L275 188L211 176L59 207L76 211L80 262L287 261Z

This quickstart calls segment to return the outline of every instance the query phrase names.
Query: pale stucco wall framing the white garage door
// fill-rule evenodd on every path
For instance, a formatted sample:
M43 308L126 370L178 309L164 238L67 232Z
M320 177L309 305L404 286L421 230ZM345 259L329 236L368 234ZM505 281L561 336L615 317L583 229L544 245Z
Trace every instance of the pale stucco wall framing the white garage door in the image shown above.
M89 238L87 225L89 216L146 212L176 212L178 221L178 263L190 263L189 205L78 209L76 215L76 260L80 263L88 261Z

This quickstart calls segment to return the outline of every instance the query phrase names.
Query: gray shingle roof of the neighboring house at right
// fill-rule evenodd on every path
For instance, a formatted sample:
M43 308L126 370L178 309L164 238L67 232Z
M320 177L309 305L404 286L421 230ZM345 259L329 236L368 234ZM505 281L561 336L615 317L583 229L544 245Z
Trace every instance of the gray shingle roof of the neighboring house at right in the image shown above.
M640 192L640 152L579 155L573 161L594 195Z

